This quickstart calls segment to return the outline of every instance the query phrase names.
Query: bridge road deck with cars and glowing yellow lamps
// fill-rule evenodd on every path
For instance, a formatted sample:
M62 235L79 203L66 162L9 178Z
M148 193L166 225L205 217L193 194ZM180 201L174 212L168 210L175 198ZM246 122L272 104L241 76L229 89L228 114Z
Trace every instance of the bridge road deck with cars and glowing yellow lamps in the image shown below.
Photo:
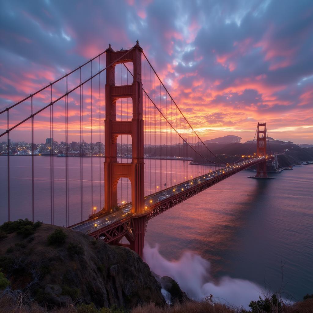
M213 186L223 179L248 167L264 162L265 160L272 160L273 158L274 156L262 156L248 159L153 193L145 197L146 206L142 213L131 213L131 203L127 203L125 206L120 207L114 212L100 212L83 222L70 226L69 228L103 239L106 242L116 240L116 236L122 236L127 231L131 231L130 221L132 218L146 216L148 221L156 215L208 187Z

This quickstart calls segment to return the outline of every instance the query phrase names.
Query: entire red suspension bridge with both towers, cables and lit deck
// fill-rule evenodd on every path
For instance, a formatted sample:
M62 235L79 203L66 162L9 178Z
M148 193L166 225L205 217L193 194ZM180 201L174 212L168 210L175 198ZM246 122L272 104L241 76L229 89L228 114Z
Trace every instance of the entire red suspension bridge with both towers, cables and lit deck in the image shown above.
M22 117L22 108L25 106L30 107L30 114ZM34 135L36 129L39 129L36 122L39 125L44 121L44 127L48 128L52 139L48 146L49 204L50 222L54 224L56 195L53 137L55 133L60 133L60 123L63 123L65 170L62 177L64 194L61 198L64 201L59 209L65 213L64 225L107 243L127 246L140 256L149 219L248 167L257 167L256 178L266 178L266 162L274 159L266 151L268 136L265 123L258 123L254 135L252 144L256 137L257 146L254 157L242 157L228 163L223 156L215 155L182 113L138 40L135 46L119 51L114 51L109 44L108 49L93 59L1 110L0 117L6 120L6 126L1 126L5 131L0 137L6 136L8 142L8 220L11 219L11 199L19 194L19 190L12 188L10 182L10 135L18 129L23 131L29 128L31 132L31 219L35 221ZM79 117L79 123L75 117ZM73 190L69 187L69 137L73 136L75 127L79 130L76 135L80 137L80 186ZM91 142L88 153L91 156L91 189L88 197L90 203L87 205L84 200L83 161L83 156L86 156L86 137ZM104 163L101 162L103 155L100 148L103 137ZM123 146L124 152L126 149L124 159L121 158ZM94 161L96 158L98 162ZM181 160L194 161L194 165L187 167L187 174L182 174ZM123 186L123 180L126 187ZM102 181L104 204L101 197ZM120 182L122 184L119 188ZM70 220L73 196L80 198L80 208L74 208L80 210L80 220L75 224ZM88 217L85 216L86 210L90 210ZM127 244L121 240L123 237L127 239Z

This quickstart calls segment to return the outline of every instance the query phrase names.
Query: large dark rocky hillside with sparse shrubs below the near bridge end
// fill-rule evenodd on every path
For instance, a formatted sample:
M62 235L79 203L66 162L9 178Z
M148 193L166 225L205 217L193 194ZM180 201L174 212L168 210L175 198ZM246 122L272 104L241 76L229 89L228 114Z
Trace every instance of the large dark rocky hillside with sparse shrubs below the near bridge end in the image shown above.
M135 252L66 228L64 243L49 245L55 229L42 224L27 238L14 232L1 240L0 268L13 290L48 307L73 301L97 307L165 305L161 284Z

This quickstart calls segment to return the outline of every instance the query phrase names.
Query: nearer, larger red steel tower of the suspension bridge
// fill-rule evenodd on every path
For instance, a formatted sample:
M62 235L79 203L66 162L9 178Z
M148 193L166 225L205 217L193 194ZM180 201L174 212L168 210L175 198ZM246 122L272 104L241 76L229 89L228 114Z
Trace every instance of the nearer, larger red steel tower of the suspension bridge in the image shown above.
M142 213L145 207L144 196L144 160L143 160L143 106L141 82L141 52L136 45L128 50L114 51L109 44L105 50L106 85L105 85L105 205L104 211L110 212L117 206L117 184L126 177L131 182L132 213ZM122 57L124 55L124 57ZM121 58L122 57L122 58ZM115 66L119 63L133 63L134 80L131 85L115 85ZM110 65L111 64L111 65ZM132 120L116 121L116 101L121 98L132 99ZM131 135L132 162L117 162L117 137ZM130 247L142 256L145 234L145 218L133 219L132 236L126 236Z

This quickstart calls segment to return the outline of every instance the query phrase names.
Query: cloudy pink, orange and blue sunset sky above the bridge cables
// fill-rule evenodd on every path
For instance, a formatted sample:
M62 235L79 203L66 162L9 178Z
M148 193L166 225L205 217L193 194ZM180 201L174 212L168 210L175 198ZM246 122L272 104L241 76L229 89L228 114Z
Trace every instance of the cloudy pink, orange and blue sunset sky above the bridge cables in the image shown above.
M275 139L313 143L311 0L2 0L0 23L0 109L138 39L203 139L247 141L266 121Z

